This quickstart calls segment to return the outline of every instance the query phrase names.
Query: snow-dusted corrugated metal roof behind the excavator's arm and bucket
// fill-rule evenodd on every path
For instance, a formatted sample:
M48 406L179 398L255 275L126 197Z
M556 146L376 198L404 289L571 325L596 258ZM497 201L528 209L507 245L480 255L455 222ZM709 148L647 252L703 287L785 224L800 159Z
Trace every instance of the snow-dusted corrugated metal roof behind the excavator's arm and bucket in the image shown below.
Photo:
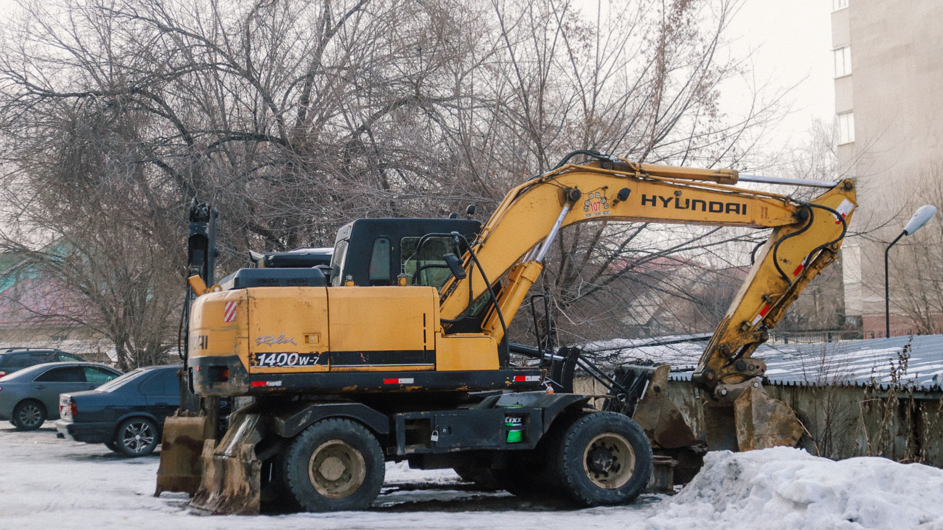
M616 360L617 351L597 352L606 357L606 364ZM689 380L702 353L703 342L679 342L626 347L618 351L618 357L669 363L672 379ZM867 385L874 381L886 388L897 377L907 387L935 390L943 383L943 335L764 344L753 356L766 361L766 375L773 384Z

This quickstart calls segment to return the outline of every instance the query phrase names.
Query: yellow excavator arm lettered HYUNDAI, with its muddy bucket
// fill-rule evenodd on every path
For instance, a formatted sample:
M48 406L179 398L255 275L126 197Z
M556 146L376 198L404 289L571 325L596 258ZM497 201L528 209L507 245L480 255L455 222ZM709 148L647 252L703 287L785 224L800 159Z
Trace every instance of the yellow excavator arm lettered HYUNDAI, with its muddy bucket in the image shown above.
M505 196L472 242L463 258L465 277L453 276L440 290L442 322L464 318L471 301L500 285L482 331L501 341L538 279L551 242L560 228L570 224L635 221L771 228L769 240L754 253L750 273L705 348L693 380L708 391L709 405L715 406L705 408L707 422L718 423L708 429L709 434L711 430L738 433L738 443L729 434L715 446L738 445L745 450L794 444L801 427L785 404L757 393L757 378L765 373L766 364L752 355L808 283L835 261L856 206L854 183L828 183L829 189L818 197L802 201L731 186L738 177L733 170L624 159L565 165L535 177ZM731 418L729 412L737 406L740 411ZM769 436L763 434L766 431Z

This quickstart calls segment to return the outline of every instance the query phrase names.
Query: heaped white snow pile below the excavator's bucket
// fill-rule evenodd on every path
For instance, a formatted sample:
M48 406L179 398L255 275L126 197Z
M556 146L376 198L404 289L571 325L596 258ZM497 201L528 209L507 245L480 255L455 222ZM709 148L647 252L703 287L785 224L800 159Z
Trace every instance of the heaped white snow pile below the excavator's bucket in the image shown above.
M776 447L708 453L658 506L657 530L943 529L943 470L879 457L833 461Z

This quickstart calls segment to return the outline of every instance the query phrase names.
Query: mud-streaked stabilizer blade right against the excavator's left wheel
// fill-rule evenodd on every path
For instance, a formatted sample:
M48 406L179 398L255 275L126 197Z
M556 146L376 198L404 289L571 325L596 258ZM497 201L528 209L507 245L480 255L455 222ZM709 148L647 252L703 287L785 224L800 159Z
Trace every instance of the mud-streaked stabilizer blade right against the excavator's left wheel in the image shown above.
M260 471L256 443L258 414L234 414L220 441L207 439L203 446L203 480L190 506L213 515L258 515Z

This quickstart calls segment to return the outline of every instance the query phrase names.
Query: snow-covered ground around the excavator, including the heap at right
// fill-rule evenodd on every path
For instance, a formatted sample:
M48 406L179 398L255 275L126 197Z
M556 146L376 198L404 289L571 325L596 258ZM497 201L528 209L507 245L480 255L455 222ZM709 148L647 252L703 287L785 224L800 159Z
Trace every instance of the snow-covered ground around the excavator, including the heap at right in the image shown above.
M712 453L679 495L580 510L477 491L449 471L389 464L368 511L207 517L187 507L186 495L154 497L156 473L157 455L125 459L104 445L56 439L51 422L29 433L2 425L0 529L943 530L943 471L884 458L833 462L787 448Z

